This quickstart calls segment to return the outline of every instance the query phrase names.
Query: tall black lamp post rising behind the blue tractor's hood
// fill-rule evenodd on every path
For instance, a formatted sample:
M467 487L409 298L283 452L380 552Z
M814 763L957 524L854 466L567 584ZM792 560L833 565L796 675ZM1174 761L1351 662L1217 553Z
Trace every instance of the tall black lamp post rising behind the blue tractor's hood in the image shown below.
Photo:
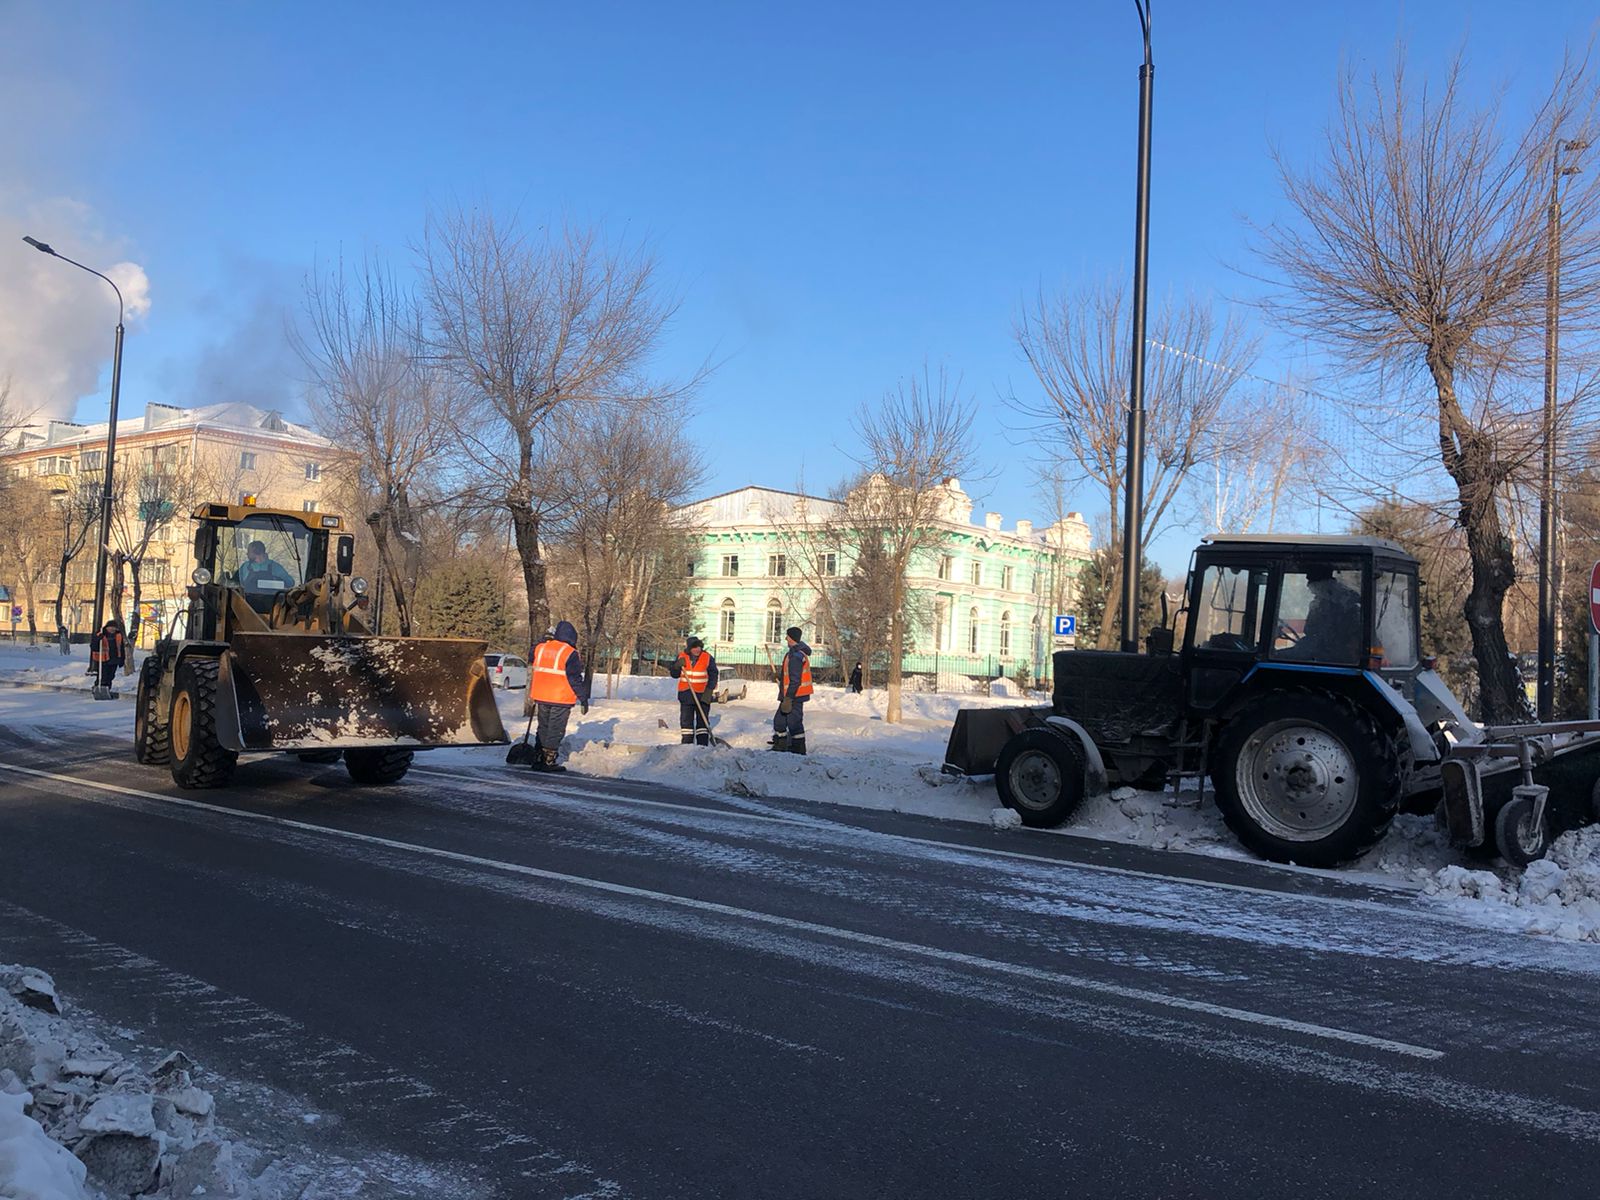
M1144 309L1150 250L1150 0L1133 0L1144 30L1139 64L1139 186L1133 219L1133 366L1128 379L1128 464L1123 470L1122 648L1139 650L1139 566L1144 558Z

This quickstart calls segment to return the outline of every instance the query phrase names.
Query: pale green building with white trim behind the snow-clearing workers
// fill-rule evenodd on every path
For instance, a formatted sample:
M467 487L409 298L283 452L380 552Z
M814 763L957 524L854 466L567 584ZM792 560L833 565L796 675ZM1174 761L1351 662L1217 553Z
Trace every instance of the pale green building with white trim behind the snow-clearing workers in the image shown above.
M1072 645L1053 637L1053 618L1075 611L1088 525L1077 512L1040 530L1027 520L1006 530L998 512L974 525L962 485L950 480L941 491L939 544L909 578L925 618L909 630L904 670L941 688L1024 667L1032 678L1048 675L1050 653ZM854 566L850 538L837 533L840 504L750 485L688 504L682 515L696 547L686 563L693 629L722 664L765 667L784 630L800 626L816 651L813 667L837 666L818 602Z

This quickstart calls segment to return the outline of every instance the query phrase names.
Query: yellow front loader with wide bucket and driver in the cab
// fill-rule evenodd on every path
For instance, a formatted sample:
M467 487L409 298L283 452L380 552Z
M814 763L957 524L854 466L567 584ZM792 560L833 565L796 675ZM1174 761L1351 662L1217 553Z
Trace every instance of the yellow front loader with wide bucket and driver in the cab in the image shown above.
M139 672L141 763L219 787L240 754L285 750L392 784L414 750L507 741L483 642L371 632L339 517L246 502L194 520L189 606Z

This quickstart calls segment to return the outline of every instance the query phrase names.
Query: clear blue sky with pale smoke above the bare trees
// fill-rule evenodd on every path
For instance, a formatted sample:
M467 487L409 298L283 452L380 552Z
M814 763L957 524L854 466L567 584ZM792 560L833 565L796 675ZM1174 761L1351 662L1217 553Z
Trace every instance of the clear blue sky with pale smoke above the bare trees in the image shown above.
M1245 219L1280 210L1269 146L1315 152L1342 61L1382 67L1405 35L1427 70L1466 42L1474 83L1515 99L1595 21L1557 2L1536 21L1504 0L1155 3L1152 299L1248 299ZM718 362L683 429L710 490L802 469L826 488L853 410L926 360L976 397L979 510L1010 525L1038 515L998 400L1034 389L1021 299L1130 270L1126 0L0 0L0 211L144 269L128 406L293 411L283 312L314 258L408 264L430 203L488 203L650 240L683 301L661 366ZM27 254L0 245L0 304ZM1269 336L1264 373L1296 352ZM77 411L104 416L102 386ZM1163 565L1192 536L1165 538Z

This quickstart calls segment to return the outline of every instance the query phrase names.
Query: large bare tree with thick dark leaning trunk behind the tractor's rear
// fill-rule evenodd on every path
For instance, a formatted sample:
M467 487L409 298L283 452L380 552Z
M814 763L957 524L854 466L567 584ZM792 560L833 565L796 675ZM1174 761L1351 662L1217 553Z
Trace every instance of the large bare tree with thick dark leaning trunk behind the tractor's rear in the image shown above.
M1323 160L1299 171L1278 158L1296 221L1262 238L1286 285L1277 317L1374 379L1389 426L1429 430L1472 563L1464 614L1488 720L1525 710L1502 616L1517 574L1502 504L1542 446L1547 211L1558 147L1592 134L1594 101L1587 64L1568 59L1507 138L1498 102L1466 98L1459 54L1438 88L1413 85L1403 51L1387 78L1363 85L1347 74ZM1597 181L1595 171L1576 176L1562 210L1562 322L1579 341L1600 317ZM1574 432L1576 398L1563 410ZM1392 445L1426 461L1421 438Z

